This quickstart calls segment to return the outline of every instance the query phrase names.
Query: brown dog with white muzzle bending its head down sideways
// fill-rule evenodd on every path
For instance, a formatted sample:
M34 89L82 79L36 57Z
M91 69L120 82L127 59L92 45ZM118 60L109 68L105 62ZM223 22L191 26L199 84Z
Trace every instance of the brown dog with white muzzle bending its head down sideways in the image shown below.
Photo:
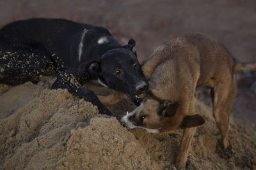
M142 127L148 132L184 129L175 162L177 168L183 168L196 126L204 124L204 118L195 114L196 87L211 87L213 116L226 149L229 114L236 97L234 73L241 69L256 69L256 64L237 62L223 45L205 34L177 36L143 61L150 97L122 120L129 128Z

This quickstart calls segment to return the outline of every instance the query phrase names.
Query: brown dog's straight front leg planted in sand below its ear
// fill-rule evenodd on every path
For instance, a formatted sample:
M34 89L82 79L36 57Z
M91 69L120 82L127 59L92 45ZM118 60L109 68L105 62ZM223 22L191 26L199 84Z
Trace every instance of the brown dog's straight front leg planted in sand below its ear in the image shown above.
M179 153L175 162L175 166L177 169L182 169L186 166L186 162L188 159L188 151L191 140L195 134L196 127L186 128L183 131L182 140L180 143Z

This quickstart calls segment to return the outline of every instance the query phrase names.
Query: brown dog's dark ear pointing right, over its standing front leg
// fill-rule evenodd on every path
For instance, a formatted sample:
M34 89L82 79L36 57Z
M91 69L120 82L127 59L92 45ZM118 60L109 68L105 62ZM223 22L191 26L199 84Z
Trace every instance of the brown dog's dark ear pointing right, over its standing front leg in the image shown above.
M189 128L189 127L196 127L196 126L202 125L204 123L205 123L205 120L200 115L198 115L198 114L191 115L191 116L188 115L183 118L180 128L184 129L184 128Z

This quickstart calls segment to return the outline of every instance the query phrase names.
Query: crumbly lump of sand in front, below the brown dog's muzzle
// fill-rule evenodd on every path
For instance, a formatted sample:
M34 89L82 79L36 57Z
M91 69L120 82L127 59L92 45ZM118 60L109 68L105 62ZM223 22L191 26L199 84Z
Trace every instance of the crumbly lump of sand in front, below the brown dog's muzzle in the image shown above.
M72 169L150 169L156 167L135 137L116 118L92 118L84 129L71 131L67 156L60 161ZM77 157L79 155L79 157Z

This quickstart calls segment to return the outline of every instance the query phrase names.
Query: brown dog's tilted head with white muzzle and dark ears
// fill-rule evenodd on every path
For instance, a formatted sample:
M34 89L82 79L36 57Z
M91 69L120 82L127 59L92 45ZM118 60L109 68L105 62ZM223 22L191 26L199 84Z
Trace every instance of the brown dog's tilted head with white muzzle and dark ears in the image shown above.
M129 129L141 127L151 133L172 132L175 129L196 127L204 124L200 115L179 114L179 103L159 103L156 99L147 99L131 113L122 117Z

